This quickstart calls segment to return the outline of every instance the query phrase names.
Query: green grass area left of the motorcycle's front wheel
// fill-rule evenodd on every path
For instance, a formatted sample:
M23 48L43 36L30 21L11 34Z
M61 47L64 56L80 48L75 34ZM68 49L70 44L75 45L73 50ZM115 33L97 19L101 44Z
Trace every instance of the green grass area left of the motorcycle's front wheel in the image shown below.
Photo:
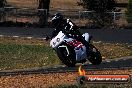
M0 44L0 69L18 69L59 64L48 46Z

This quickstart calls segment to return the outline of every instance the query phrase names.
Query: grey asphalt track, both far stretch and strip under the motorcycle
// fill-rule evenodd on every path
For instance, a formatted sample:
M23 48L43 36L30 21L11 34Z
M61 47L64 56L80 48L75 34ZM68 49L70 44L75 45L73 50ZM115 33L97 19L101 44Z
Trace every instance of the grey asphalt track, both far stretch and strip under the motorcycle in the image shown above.
M50 36L52 28L14 28L1 27L0 36L20 36L20 37L35 37L44 38L46 35ZM82 33L88 32L93 36L94 41L104 41L112 43L128 43L132 44L132 29L109 30L109 29L80 29ZM0 71L0 76L9 75L26 75L39 73L58 73L58 72L76 72L78 66L69 68L65 65L58 65L54 67L41 67L31 69L18 69L11 71ZM104 70L104 69L125 69L132 68L132 56L117 58L114 60L103 61L100 65L84 64L85 70Z

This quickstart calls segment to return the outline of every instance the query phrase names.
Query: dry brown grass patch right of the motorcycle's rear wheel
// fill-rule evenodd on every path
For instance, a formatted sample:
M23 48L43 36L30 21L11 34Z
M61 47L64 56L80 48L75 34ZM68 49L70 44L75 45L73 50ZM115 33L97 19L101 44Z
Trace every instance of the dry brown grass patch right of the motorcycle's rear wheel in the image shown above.
M132 46L118 43L93 43L101 52L103 59L113 59L132 55Z

